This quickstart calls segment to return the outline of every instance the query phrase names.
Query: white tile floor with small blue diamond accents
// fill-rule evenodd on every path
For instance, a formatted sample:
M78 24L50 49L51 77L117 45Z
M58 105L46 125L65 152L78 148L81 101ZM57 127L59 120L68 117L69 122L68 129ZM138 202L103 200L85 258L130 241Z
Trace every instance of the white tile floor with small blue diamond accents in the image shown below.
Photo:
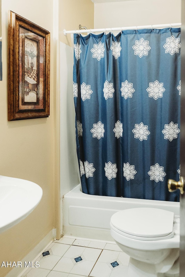
M22 277L127 277L129 256L115 243L62 237L45 251Z

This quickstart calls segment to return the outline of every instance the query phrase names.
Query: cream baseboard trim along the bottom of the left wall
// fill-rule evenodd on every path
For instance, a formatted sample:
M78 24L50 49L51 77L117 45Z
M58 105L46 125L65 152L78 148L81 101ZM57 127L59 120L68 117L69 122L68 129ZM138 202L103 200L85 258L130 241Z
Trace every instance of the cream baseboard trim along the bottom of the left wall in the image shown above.
M56 240L56 229L53 228L35 247L31 250L23 259L22 265L25 261L36 261L38 257L42 254L42 252L53 242ZM10 272L5 277L21 277L24 272L27 271L27 267L13 267Z

